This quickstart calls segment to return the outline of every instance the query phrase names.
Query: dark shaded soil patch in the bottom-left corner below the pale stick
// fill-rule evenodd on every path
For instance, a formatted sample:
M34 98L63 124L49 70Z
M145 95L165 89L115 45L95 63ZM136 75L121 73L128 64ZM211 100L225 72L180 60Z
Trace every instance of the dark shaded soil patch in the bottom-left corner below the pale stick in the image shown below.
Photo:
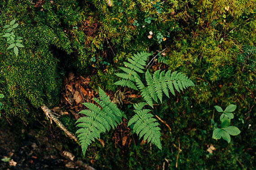
M7 162L0 160L0 170L81 169L63 156L61 144L72 144L56 127L48 122L25 126L15 121L12 126L6 120L0 121L0 159L10 158Z

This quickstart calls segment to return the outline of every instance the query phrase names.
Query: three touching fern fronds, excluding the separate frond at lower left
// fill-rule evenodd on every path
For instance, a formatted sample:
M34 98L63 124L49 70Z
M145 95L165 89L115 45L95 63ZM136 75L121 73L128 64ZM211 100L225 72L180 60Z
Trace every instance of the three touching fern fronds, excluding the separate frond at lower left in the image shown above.
M167 72L157 70L152 77L149 70L146 70L146 85L144 85L139 73L144 73L143 69L149 56L149 53L138 53L132 59L128 59L128 62L124 62L127 67L121 67L120 69L123 72L116 73L116 76L119 76L121 80L117 81L115 85L127 86L141 92L141 96L146 102L133 105L136 115L129 120L128 126L134 123L133 130L140 138L144 136L144 140L161 149L159 123L152 118L153 115L149 113L150 110L142 108L146 104L153 108L153 101L156 103L162 102L163 93L170 98L169 91L175 95L174 90L180 92L189 86L194 86L194 83L181 72L172 72L171 74L170 70Z

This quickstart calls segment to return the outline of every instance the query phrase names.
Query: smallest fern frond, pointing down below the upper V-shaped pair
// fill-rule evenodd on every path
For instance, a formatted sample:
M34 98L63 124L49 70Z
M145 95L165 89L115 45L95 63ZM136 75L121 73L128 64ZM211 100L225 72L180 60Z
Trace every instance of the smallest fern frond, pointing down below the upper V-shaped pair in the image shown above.
M156 119L152 118L154 115L149 113L149 109L142 109L146 104L145 102L141 102L133 105L136 115L129 120L128 126L134 124L133 131L137 133L140 139L143 137L145 141L147 140L148 143L155 144L162 150L159 123L157 123Z

